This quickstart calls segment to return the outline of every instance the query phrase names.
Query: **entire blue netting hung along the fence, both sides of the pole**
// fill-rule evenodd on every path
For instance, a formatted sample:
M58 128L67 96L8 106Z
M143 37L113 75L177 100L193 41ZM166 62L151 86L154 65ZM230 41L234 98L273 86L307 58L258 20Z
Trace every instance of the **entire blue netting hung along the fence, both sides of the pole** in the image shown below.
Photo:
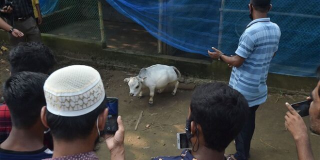
M234 54L250 22L249 0L106 0L150 34L178 49L207 55L211 46ZM320 65L320 0L273 0L271 21L281 28L269 72L314 76ZM295 15L291 14L294 13ZM220 26L220 31L219 31ZM219 34L220 33L220 34Z

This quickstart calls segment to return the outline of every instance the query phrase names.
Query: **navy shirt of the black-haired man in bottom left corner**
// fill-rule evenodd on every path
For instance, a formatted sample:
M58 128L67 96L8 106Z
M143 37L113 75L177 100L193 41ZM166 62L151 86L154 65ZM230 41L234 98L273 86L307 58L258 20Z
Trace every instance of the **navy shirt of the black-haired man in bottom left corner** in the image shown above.
M1 160L40 160L49 157L52 157L52 151L47 147L34 151L13 151L0 148Z

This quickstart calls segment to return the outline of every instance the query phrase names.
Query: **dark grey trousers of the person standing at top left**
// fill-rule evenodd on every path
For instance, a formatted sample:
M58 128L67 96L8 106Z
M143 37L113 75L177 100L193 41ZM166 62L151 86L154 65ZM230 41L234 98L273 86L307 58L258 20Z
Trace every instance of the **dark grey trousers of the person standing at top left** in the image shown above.
M35 19L32 16L21 21L14 20L14 28L22 31L24 36L17 38L9 33L11 45L16 45L19 42L41 42L40 30L36 25Z

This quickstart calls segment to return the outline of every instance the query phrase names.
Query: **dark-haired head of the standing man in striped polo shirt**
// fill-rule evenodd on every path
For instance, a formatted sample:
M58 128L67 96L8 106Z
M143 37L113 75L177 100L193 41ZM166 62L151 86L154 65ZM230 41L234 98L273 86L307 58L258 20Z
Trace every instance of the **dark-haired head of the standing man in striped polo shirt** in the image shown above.
M267 13L271 8L271 0L250 0L248 4L250 11L250 18L253 20L254 14L259 13Z

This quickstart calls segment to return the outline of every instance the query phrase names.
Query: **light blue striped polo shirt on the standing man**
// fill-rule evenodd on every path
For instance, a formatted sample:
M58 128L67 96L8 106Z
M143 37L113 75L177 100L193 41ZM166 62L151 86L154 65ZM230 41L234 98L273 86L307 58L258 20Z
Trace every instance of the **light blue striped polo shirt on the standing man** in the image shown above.
M265 81L280 35L279 26L270 18L259 18L251 21L240 37L235 53L245 60L241 66L233 66L229 86L242 93L249 106L259 105L267 98Z

